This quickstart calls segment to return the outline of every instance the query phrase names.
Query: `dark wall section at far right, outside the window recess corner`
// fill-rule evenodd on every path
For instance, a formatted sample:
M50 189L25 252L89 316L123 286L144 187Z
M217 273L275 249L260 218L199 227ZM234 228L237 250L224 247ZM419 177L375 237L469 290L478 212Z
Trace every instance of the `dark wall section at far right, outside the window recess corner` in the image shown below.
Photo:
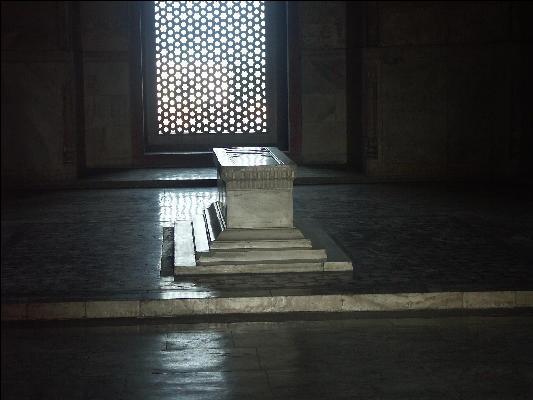
M530 152L521 101L530 6L368 2L365 12L357 51L366 172L518 174Z

